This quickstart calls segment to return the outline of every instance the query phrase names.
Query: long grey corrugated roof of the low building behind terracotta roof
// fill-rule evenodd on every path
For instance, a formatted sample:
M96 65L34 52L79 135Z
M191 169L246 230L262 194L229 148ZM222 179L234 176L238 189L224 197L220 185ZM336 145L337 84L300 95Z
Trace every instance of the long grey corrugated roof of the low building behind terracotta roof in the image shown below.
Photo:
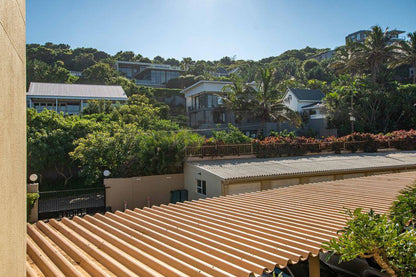
M190 162L224 180L416 167L416 151Z

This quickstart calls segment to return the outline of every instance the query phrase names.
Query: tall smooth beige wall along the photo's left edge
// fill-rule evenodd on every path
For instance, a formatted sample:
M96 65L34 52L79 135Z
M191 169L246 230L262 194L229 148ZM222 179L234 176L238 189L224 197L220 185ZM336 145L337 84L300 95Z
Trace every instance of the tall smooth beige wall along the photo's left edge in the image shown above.
M0 0L0 276L26 259L25 1Z

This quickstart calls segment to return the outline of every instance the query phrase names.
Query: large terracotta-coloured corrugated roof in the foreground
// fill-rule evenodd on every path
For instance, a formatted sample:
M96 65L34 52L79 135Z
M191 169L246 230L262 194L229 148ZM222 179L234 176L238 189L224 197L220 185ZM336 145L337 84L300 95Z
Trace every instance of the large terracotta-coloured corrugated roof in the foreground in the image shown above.
M345 208L388 211L416 171L27 225L27 272L250 276L316 256Z

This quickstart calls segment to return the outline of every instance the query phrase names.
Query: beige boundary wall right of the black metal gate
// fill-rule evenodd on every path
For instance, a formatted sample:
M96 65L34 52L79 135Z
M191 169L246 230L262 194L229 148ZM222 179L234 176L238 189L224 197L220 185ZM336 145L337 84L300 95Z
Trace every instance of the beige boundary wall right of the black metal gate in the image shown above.
M112 211L169 204L170 191L184 188L183 174L154 175L132 178L109 178L106 186L106 206Z

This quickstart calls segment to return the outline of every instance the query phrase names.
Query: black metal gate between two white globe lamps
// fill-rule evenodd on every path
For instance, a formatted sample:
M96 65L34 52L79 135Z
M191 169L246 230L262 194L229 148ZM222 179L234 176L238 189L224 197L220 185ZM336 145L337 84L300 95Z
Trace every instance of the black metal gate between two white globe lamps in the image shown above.
M105 188L39 192L38 218L61 218L105 212Z

